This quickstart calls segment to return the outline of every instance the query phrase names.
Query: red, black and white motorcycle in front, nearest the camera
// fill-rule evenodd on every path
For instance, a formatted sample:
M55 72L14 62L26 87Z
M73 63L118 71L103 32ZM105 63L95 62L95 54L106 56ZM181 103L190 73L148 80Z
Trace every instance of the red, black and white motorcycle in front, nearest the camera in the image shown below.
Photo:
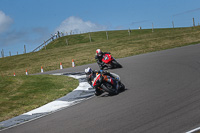
M103 74L97 74L92 82L92 86L97 88L100 93L107 92L109 95L117 95L120 91L125 90L124 84L120 81L120 77L114 73L110 73L113 82L118 85L114 86L113 84L104 80Z

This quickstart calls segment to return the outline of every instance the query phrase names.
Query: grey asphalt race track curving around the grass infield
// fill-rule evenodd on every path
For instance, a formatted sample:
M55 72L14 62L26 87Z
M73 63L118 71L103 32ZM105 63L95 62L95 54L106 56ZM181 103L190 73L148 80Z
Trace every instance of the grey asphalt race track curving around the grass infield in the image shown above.
M127 90L80 104L2 133L182 133L200 127L200 45L118 60ZM47 72L80 72L87 66Z

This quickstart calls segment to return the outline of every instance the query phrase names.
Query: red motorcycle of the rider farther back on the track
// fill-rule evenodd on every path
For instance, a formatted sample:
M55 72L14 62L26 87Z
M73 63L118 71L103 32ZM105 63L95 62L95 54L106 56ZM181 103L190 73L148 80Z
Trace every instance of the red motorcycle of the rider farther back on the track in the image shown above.
M97 64L99 65L99 68L101 70L103 70L105 67L106 68L110 68L110 69L113 69L113 68L122 68L122 65L120 65L114 57L112 57L110 54L105 54L102 58L102 63L98 62L97 61Z

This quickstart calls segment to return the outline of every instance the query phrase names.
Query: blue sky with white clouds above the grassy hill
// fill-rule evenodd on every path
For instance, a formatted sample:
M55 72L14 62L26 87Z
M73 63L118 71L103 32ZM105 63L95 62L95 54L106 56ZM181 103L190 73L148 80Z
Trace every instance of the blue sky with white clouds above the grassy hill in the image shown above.
M0 0L0 51L31 52L57 31L189 27L193 18L200 23L199 0Z

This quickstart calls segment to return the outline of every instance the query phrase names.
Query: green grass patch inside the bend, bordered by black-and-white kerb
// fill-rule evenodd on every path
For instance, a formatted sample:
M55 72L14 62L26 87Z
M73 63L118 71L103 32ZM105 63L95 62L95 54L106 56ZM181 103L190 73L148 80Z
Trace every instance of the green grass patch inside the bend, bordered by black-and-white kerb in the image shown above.
M78 84L78 80L67 76L0 77L0 121L62 97Z

